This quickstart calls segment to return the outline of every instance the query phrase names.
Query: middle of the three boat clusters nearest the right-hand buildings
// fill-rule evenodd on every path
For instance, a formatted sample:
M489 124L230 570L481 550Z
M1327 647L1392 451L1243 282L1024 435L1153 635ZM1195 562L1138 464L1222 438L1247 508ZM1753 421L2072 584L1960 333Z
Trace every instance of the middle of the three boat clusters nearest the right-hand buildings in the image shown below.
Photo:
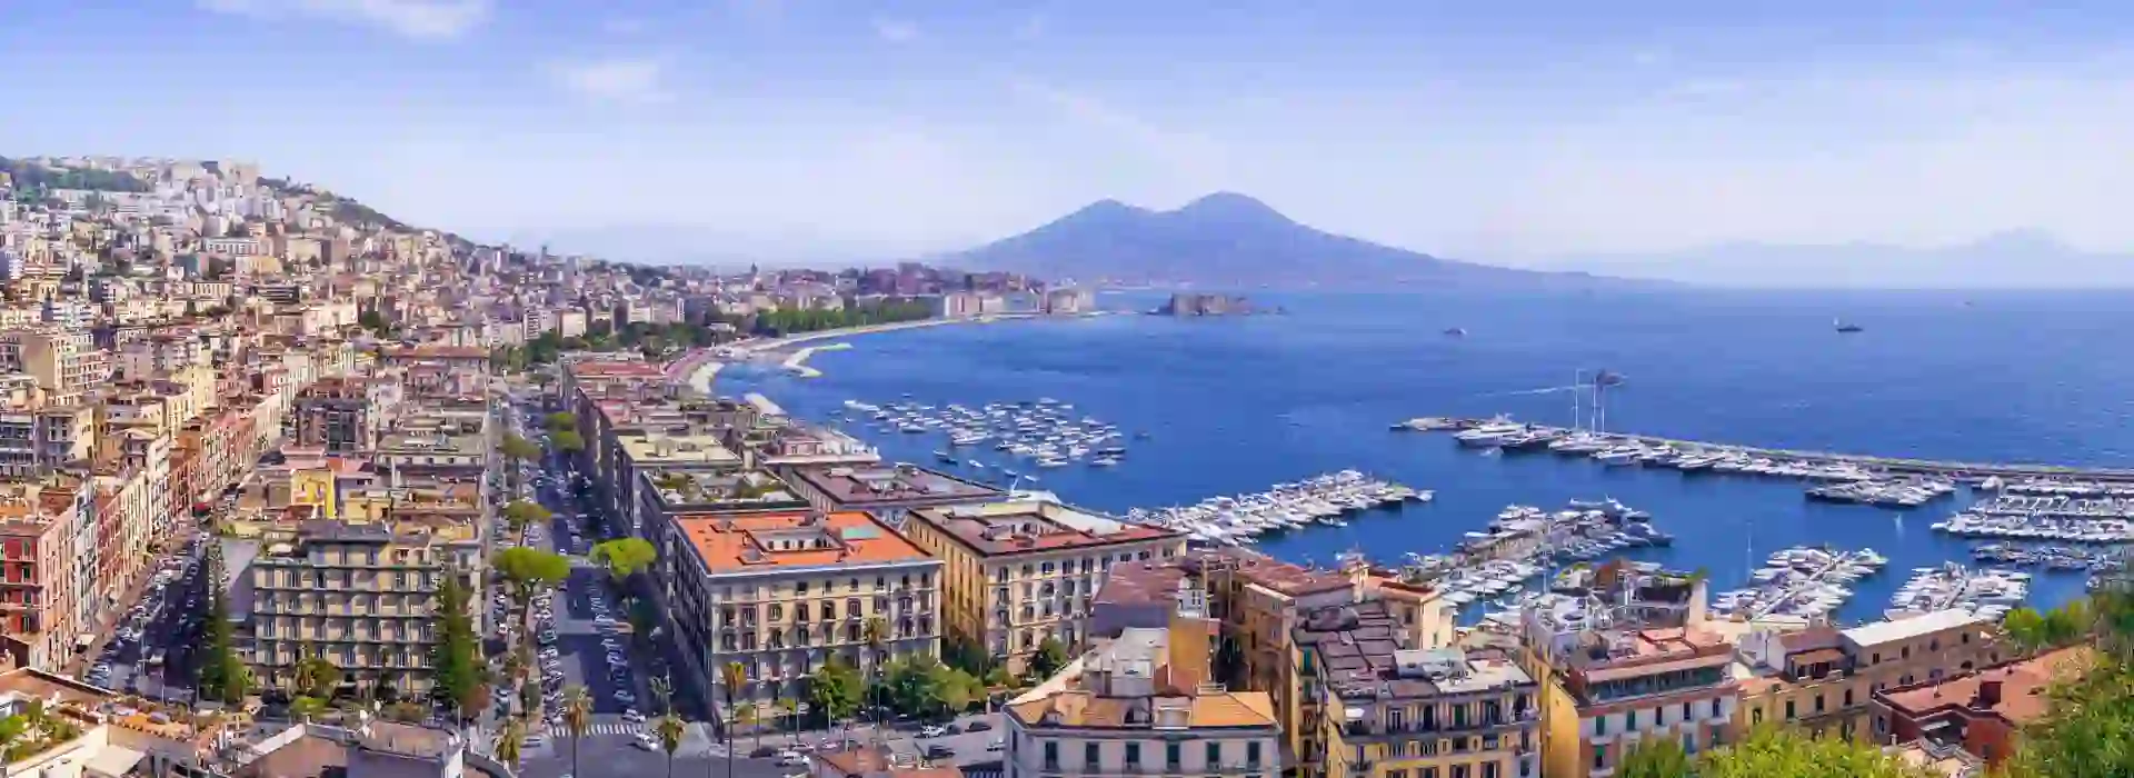
M1773 552L1765 567L1750 573L1748 588L1711 595L1711 614L1737 620L1790 616L1805 622L1827 620L1852 599L1852 584L1874 576L1889 558L1872 548L1837 552L1829 548L1793 546Z

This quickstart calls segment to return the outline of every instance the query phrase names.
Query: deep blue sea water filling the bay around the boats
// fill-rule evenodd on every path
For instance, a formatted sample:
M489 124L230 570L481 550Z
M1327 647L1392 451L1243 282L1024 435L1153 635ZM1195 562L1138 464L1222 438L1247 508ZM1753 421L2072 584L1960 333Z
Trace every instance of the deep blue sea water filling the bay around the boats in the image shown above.
M1626 556L1748 584L1788 546L1874 548L1891 565L1837 616L1880 618L1914 567L1970 561L1972 541L1931 531L1965 497L1916 509L1812 503L1801 482L1603 467L1547 452L1460 448L1396 433L1417 416L1571 424L1579 375L1611 371L1605 428L1677 439L1974 463L2134 465L2134 294L2125 292L1592 292L1265 294L1280 313L1144 315L1161 296L1099 296L1118 315L950 324L847 339L822 377L732 364L719 394L762 392L798 418L839 424L886 458L939 465L939 435L841 422L845 401L984 405L1050 396L1078 416L1146 433L1114 469L1035 469L986 445L960 450L1039 473L1103 512L1197 503L1340 469L1430 488L1428 505L1349 526L1306 526L1261 552L1332 565L1342 552L1398 563L1447 552L1507 505L1560 509L1613 497L1650 512L1671 548ZM1835 322L1861 333L1837 333ZM1464 335L1449 335L1460 328ZM1588 407L1577 418L1592 422ZM2034 569L2032 601L2083 593L2083 573Z

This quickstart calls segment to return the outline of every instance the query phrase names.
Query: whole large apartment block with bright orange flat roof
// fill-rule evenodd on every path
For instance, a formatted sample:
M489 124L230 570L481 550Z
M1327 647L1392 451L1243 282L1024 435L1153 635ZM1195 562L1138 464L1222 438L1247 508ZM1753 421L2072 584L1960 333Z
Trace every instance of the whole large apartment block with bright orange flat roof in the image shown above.
M830 659L871 674L871 620L888 639L881 659L941 648L941 561L866 514L681 516L668 531L668 618L711 699L726 699L728 663L751 678L736 706L800 699Z

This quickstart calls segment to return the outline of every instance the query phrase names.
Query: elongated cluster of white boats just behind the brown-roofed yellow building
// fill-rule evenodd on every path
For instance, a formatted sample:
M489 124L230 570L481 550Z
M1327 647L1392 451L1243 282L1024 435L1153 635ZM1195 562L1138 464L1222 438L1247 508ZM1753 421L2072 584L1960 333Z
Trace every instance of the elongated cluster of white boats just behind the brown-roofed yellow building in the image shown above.
M1263 492L1210 497L1182 507L1135 507L1125 518L1182 531L1189 541L1199 546L1244 546L1259 535L1308 524L1349 526L1347 516L1376 507L1428 503L1432 497L1430 490L1374 480L1351 469L1274 484Z

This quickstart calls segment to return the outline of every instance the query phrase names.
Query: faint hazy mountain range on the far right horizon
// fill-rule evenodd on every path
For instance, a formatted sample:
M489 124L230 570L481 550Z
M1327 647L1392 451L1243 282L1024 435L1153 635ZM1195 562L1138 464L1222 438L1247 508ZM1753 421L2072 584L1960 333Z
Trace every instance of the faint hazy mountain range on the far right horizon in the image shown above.
M2083 252L2042 230L1995 232L1931 249L1726 243L1647 256L1571 256L1547 266L1739 288L2134 288L2134 254Z

